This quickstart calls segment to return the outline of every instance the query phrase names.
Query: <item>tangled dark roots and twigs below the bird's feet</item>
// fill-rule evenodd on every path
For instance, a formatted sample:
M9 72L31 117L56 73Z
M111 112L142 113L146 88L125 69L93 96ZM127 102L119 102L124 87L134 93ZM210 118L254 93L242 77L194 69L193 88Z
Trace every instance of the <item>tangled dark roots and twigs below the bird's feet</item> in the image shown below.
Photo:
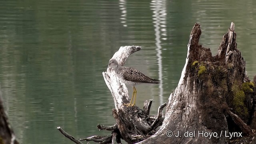
M131 107L131 108L127 108L126 112L122 112L121 110L119 110L119 112L117 113L116 109L113 109L113 116L116 118L117 120L117 124L114 124L113 126L104 126L104 125L100 125L97 124L97 128L99 130L108 130L111 131L112 134L111 135L107 135L107 136L98 136L98 135L94 135L94 136L90 136L88 138L80 138L79 140L82 141L94 141L94 142L99 142L99 144L114 144L114 142L116 141L118 144L121 144L121 139L124 139L122 137L122 134L120 133L120 128L127 128L130 129L129 127L129 123L127 122L127 119L124 118L129 118L130 120L130 116L133 116L134 113L137 114L137 116L142 116L144 118L144 120L147 120L146 123L150 124L150 126L146 126L142 128L144 130L144 134L139 134L138 133L138 129L141 128L136 128L134 127L135 132L137 132L137 134L134 134L134 132L131 132L130 135L130 142L134 143L134 142L140 142L146 138L148 138L149 136L153 135L156 132L156 128L158 128L158 126L162 125L162 122L164 120L164 117L162 117L162 110L163 108L166 106L166 103L162 104L161 106L159 106L158 108L158 114L157 116L149 116L149 111L150 111L150 107L152 104L153 100L145 100L144 102L144 111L140 110L137 106ZM121 115L126 115L126 116L120 116ZM146 117L146 118L145 118ZM118 121L120 120L120 121ZM140 121L140 119L137 121L141 124L143 124L142 121ZM133 124L133 123L132 123ZM65 132L64 130L62 130L62 128L58 127L57 128L64 136L66 136L67 138L69 138L70 140L72 140L74 143L76 144L83 144L82 142L80 142L79 140L76 140L73 136L71 136L70 134L68 134L67 132ZM132 129L131 129L132 130ZM129 134L127 134L129 136Z

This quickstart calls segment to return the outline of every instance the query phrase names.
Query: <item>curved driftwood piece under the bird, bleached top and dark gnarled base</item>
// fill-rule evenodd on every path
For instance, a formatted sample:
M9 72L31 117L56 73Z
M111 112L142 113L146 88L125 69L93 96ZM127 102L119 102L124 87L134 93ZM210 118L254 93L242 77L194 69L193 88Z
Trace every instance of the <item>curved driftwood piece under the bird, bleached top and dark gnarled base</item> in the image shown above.
M116 59L122 66L128 56L138 50L140 46L124 46L120 47L118 52L114 54L112 59ZM120 137L128 143L136 143L150 137L156 132L156 128L162 125L162 110L166 104L162 104L158 108L158 116L149 116L152 100L145 102L144 110L140 110L137 106L126 107L123 104L128 103L128 90L124 83L116 77L114 70L108 68L107 72L103 72L104 80L112 92L115 108L112 110L116 119L116 124L120 132Z

